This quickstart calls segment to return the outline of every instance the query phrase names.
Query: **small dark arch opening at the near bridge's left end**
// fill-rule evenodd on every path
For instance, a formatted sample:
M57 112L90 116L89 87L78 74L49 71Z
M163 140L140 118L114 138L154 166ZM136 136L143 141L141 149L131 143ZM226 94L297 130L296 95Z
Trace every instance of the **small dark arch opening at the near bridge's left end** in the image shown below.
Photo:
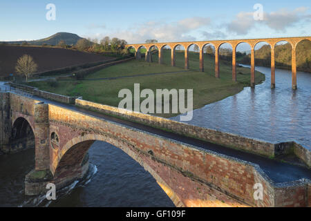
M12 151L35 147L35 132L30 122L24 117L17 117L12 124L10 144Z

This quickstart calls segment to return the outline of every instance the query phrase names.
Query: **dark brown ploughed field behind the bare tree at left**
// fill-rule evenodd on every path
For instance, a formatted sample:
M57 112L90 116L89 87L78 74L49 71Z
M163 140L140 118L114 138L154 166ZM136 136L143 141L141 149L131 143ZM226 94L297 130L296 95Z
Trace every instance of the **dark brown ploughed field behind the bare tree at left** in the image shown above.
M38 65L39 73L46 70L111 59L111 57L63 48L0 46L0 77L7 77L10 74L14 74L17 59L22 55L33 57Z

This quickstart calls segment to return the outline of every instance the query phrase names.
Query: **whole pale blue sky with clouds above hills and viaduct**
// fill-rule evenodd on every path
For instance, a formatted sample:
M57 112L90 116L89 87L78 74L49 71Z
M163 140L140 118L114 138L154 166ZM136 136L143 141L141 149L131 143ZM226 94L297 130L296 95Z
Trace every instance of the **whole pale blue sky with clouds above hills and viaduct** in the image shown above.
M234 2L234 3L233 3ZM56 20L46 19L46 5ZM254 4L263 6L255 21ZM41 39L73 32L129 43L310 36L311 1L0 1L0 41Z

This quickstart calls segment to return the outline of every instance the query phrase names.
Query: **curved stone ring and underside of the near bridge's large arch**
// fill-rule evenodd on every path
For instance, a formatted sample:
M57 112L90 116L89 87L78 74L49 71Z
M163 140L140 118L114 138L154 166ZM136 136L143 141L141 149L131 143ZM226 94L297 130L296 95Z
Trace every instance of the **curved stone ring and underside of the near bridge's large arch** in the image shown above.
M171 190L169 185L160 177L156 171L157 169L161 170L160 163L155 166L154 160L152 160L151 155L147 155L139 151L138 148L135 148L133 145L124 142L122 140L117 140L115 138L109 137L107 135L94 135L88 134L84 136L75 137L67 144L64 145L62 151L59 152L59 157L56 162L54 180L62 180L65 177L73 177L77 173L81 173L81 168L86 161L86 156L88 149L92 146L95 141L102 141L112 144L113 146L120 148L124 153L129 155L133 160L138 162L141 166L148 171L159 186L164 190L165 193L169 196L172 202L176 206L185 206L178 195ZM53 170L51 170L53 171Z

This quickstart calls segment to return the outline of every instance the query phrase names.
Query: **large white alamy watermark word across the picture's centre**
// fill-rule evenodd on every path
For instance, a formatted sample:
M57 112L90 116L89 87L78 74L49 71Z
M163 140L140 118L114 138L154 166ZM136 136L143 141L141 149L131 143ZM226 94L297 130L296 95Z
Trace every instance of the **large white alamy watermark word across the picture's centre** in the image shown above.
M124 98L119 103L120 111L135 111L140 113L173 113L185 114L180 116L180 121L188 122L193 117L194 90L187 89L187 107L185 89L156 89L156 95L151 89L140 91L140 84L134 84L134 95L129 89L122 89L118 97ZM140 102L141 98L145 98ZM133 105L134 104L134 105ZM155 106L156 104L156 106ZM163 107L163 108L162 108Z

